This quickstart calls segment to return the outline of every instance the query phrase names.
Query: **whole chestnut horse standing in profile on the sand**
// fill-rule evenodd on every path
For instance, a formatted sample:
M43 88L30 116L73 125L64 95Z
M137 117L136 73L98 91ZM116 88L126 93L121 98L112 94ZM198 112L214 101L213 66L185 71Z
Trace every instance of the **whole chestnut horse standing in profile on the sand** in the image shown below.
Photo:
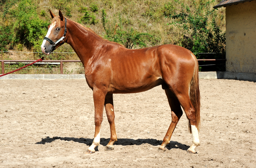
M172 122L158 150L166 150L182 108L188 118L192 145L188 153L196 153L200 145L200 92L198 62L186 48L162 45L143 49L127 49L104 40L90 28L63 17L50 10L52 23L41 45L42 52L49 55L55 48L68 43L84 65L86 82L93 91L95 110L95 134L88 153L100 144L100 126L105 106L110 125L110 141L105 150L113 150L117 141L113 93L138 93L162 85L171 107ZM55 42L53 42L55 41ZM189 91L190 90L190 91Z

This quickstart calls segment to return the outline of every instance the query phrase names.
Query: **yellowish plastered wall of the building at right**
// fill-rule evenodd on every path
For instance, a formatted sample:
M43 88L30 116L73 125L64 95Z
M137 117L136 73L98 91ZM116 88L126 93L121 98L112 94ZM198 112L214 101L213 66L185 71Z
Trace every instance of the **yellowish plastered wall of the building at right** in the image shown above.
M226 7L226 71L256 73L256 1Z

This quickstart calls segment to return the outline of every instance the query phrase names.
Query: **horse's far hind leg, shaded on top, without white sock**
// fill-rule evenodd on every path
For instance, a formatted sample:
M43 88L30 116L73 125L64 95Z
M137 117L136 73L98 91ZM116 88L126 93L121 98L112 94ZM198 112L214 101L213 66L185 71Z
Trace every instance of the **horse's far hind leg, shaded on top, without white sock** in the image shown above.
M158 148L158 150L163 150L165 151L165 146L170 143L170 139L172 137L172 133L178 123L178 121L180 120L180 117L182 116L182 110L180 107L180 102L177 99L177 97L172 93L172 91L170 89L165 89L165 94L167 96L169 105L171 107L171 111L172 111L172 122L170 124L170 127L168 128L168 131L166 133L166 135L164 136L164 140L163 143L161 144L161 146Z

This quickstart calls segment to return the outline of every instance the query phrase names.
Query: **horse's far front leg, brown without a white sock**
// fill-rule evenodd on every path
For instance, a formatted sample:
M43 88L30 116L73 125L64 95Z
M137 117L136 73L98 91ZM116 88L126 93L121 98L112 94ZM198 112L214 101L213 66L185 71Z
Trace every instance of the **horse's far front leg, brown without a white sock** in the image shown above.
M114 105L113 105L113 94L107 94L105 98L105 109L108 117L108 122L110 126L110 141L108 142L105 150L113 150L114 142L117 141L116 136L116 127L115 127L115 113L114 113Z

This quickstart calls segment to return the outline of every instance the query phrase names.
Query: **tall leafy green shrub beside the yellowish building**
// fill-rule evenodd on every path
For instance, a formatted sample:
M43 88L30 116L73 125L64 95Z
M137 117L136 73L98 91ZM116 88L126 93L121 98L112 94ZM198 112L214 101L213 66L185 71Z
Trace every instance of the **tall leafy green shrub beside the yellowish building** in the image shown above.
M181 4L181 12L172 16L175 19L172 24L183 28L185 32L185 38L180 41L181 46L193 53L220 53L225 50L225 32L221 32L217 25L215 9L210 10L210 3L211 1L200 1L196 4L193 1L194 11ZM204 55L199 55L198 58L200 57Z

